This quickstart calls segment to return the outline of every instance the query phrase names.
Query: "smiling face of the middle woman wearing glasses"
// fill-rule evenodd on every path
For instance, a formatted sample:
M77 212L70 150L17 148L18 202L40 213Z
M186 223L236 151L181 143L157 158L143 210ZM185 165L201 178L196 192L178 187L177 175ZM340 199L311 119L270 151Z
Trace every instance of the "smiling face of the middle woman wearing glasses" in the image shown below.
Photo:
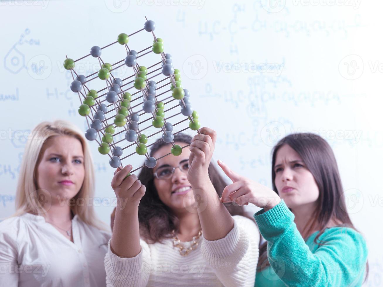
M180 146L184 143L175 143ZM165 145L157 150L153 157L159 158L169 153L171 146ZM177 167L179 165L187 164L189 161L190 150L183 148L182 153L176 157L168 155L157 161L157 166L153 169L155 173L158 168L162 166ZM175 212L184 212L188 207L194 203L194 195L191 190L191 184L188 182L187 173L181 171L179 168L174 170L173 176L169 179L154 178L154 186L157 189L160 200ZM180 191L181 189L181 191Z

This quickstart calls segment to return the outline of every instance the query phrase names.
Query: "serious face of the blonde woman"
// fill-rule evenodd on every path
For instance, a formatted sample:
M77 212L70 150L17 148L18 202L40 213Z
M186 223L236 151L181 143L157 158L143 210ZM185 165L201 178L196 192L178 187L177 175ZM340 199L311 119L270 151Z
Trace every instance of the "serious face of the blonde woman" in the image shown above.
M85 177L84 155L80 140L67 135L50 137L43 145L36 179L52 203L73 198Z

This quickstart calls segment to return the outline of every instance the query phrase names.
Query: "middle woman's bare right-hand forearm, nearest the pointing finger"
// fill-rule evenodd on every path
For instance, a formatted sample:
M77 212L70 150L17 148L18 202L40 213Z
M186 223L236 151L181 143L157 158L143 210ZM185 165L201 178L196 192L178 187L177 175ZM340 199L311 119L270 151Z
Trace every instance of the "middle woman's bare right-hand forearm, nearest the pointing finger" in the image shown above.
M229 211L219 200L210 179L206 183L191 184L197 204L203 236L206 240L224 238L234 227Z

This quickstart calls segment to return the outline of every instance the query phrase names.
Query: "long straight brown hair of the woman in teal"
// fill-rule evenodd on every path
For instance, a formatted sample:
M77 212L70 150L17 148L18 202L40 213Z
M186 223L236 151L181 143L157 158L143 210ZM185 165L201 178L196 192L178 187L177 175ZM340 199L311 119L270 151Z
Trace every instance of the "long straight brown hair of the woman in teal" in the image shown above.
M278 194L275 186L275 160L278 150L283 145L289 145L302 158L307 169L313 174L319 189L318 205L313 213L313 217L304 227L306 234L311 235L315 231L316 223L319 224L319 232L314 242L318 242L319 236L325 231L331 220L337 226L350 227L356 230L351 222L344 198L342 181L338 171L334 152L330 145L322 137L312 133L290 134L281 139L272 150L272 184L273 191ZM306 238L305 238L306 239ZM263 263L263 264L262 264ZM270 264L267 259L267 241L259 246L259 260L257 271L265 269ZM368 275L368 263L366 266L366 279Z

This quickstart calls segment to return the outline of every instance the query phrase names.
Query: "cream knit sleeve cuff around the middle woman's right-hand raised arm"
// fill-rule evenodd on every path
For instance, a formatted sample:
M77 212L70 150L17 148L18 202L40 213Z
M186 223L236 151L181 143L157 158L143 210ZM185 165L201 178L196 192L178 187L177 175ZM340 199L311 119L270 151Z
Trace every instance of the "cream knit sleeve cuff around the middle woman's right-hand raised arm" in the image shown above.
M206 251L214 258L223 258L234 253L239 242L239 229L234 220L234 227L229 233L218 240L206 240L203 238Z

